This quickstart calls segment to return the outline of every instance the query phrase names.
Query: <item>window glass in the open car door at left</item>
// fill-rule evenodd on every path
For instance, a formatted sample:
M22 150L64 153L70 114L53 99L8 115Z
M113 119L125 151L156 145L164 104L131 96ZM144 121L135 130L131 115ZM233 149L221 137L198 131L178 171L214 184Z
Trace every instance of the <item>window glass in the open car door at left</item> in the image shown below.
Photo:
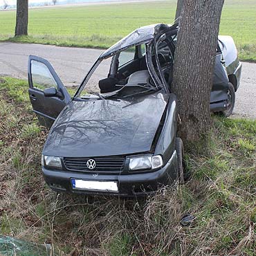
M31 76L33 81L33 88L39 89L40 91L44 91L44 89L51 87L55 87L57 89L57 82L44 63L32 60Z

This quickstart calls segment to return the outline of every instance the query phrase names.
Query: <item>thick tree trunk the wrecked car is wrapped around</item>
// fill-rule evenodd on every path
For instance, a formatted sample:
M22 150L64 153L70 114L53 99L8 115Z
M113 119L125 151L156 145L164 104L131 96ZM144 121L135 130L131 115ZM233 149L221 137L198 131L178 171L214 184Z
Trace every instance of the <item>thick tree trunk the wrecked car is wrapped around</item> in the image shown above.
M179 136L195 142L210 129L210 91L224 0L184 0L172 88L179 105Z

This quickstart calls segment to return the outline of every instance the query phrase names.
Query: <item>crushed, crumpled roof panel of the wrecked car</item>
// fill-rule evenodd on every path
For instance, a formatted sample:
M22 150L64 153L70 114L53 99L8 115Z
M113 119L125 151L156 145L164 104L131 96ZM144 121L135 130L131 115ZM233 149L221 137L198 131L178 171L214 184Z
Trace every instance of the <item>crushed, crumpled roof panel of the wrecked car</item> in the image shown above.
M100 59L114 55L118 51L125 50L125 48L150 42L154 39L155 35L157 35L160 30L165 28L170 28L170 26L165 24L153 24L137 28L132 33L122 38L116 44L104 51L104 53L100 55Z

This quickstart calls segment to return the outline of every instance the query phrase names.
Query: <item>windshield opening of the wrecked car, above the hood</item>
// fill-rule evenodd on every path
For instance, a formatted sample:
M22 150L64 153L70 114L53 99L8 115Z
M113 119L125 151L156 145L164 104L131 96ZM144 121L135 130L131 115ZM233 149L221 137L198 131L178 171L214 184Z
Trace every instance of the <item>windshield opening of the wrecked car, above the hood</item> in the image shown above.
M82 100L127 98L158 88L147 68L145 44L131 46L106 59L99 59L75 95Z

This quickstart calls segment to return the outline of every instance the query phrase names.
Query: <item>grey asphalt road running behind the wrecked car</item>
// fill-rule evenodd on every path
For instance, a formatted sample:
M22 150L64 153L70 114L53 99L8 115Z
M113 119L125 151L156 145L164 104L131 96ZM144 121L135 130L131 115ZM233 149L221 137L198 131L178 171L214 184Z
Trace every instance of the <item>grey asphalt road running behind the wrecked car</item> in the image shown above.
M78 85L103 50L0 43L0 75L27 78L28 55L47 59L66 86ZM256 119L256 64L243 63L232 116Z

